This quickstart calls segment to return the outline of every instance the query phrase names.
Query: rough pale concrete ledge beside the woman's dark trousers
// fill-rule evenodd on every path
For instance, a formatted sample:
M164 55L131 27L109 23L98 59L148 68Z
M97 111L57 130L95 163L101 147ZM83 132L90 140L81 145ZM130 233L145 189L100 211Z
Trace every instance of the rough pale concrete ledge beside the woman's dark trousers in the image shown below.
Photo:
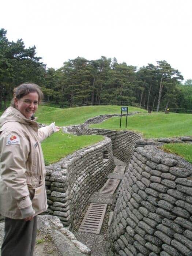
M73 233L65 229L59 218L55 216L39 215L37 230L34 255L86 256L91 254L91 250L79 242ZM0 223L0 247L3 236L4 223Z

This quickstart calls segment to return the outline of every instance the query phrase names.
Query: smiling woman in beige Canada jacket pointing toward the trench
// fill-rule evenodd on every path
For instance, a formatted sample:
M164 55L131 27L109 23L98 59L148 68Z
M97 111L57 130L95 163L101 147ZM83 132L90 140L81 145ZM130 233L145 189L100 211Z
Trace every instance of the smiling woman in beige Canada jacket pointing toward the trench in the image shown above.
M46 211L45 165L40 142L59 131L54 123L38 129L33 114L43 94L24 83L0 117L0 214L5 217L1 256L32 256L37 214Z

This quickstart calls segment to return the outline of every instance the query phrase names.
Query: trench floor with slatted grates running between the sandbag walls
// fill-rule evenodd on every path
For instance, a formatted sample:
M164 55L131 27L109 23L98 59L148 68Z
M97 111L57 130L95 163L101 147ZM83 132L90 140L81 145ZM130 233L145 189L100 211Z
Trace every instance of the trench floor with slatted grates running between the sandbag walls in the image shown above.
M79 225L74 231L76 238L91 249L91 255L93 256L106 255L107 229L112 221L114 199L127 166L125 162L120 161L117 157L113 158L115 163L113 172L108 174L108 179L103 187L91 195L88 207L86 207ZM91 213L89 212L91 204L96 209L98 209L98 206L105 207L106 211L102 215L99 208L98 212ZM98 225L98 218L100 219L100 225Z

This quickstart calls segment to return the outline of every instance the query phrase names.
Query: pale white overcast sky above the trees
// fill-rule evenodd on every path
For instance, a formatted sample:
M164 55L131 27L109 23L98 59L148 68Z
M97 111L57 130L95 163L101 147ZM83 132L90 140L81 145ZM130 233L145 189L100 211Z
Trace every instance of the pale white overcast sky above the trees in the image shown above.
M142 67L166 60L192 79L192 0L9 0L0 28L35 45L47 67L77 56Z

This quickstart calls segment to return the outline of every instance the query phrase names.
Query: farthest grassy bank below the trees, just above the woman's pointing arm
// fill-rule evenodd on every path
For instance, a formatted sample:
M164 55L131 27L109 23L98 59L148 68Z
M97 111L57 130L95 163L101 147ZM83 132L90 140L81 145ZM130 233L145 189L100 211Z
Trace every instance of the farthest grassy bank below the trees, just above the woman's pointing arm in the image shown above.
M129 112L146 110L130 106ZM58 126L82 124L87 119L99 114L121 114L121 106L84 106L78 108L60 109L48 106L39 106L35 116L39 123L50 124L55 121Z

